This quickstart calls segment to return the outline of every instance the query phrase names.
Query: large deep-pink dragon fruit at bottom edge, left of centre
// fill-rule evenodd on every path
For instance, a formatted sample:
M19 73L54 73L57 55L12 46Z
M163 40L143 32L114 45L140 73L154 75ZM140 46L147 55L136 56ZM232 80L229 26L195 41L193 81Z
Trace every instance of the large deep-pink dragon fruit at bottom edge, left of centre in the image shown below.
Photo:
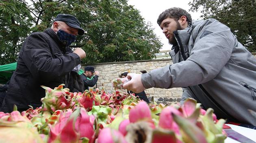
M84 108L77 108L73 113L68 110L60 116L54 127L50 126L48 143L78 143L81 141L94 141L93 118Z

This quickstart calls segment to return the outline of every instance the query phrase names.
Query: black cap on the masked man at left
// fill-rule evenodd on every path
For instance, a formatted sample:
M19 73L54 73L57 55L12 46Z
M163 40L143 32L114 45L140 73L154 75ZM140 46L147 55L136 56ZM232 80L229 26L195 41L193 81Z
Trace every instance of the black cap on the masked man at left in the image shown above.
M63 21L70 27L77 28L79 35L85 34L85 31L80 27L80 22L73 15L58 14L54 21Z

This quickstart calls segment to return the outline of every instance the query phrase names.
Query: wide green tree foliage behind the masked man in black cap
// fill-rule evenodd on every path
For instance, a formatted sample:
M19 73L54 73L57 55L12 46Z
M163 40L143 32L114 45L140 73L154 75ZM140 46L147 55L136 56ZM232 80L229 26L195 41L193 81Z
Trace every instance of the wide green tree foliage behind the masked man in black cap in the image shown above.
M85 30L71 45L85 50L85 64L152 59L162 46L127 0L30 0L30 6L25 1L0 0L0 64L15 61L26 36L51 27L59 13L76 16Z

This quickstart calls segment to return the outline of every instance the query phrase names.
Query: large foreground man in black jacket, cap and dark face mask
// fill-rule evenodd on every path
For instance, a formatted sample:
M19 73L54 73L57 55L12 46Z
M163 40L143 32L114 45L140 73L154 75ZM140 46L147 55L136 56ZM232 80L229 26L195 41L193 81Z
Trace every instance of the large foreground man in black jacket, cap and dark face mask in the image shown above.
M68 86L69 73L85 58L85 51L69 45L76 36L85 32L73 15L57 15L52 27L44 32L30 34L24 41L17 60L7 95L0 111L11 112L13 105L19 111L41 106L45 90L41 85L54 88Z

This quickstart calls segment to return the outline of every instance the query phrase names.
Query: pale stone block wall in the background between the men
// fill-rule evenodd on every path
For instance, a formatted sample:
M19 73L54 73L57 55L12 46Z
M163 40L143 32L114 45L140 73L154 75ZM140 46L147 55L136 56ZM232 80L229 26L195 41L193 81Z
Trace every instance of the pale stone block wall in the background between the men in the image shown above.
M115 62L115 63L99 63L93 65L95 70L100 72L99 80L97 82L97 87L106 90L109 93L114 92L111 80L118 78L119 75L128 71L130 73L140 74L141 70L150 71L152 69L165 67L166 65L173 64L171 59L154 59L154 60L143 60L143 61L125 61L125 62ZM82 66L85 67L84 65ZM96 86L94 86L95 88ZM145 93L149 99L154 97L154 101L161 103L177 103L180 101L182 95L182 88L171 88L171 89L161 89L161 88L150 88L146 89Z

